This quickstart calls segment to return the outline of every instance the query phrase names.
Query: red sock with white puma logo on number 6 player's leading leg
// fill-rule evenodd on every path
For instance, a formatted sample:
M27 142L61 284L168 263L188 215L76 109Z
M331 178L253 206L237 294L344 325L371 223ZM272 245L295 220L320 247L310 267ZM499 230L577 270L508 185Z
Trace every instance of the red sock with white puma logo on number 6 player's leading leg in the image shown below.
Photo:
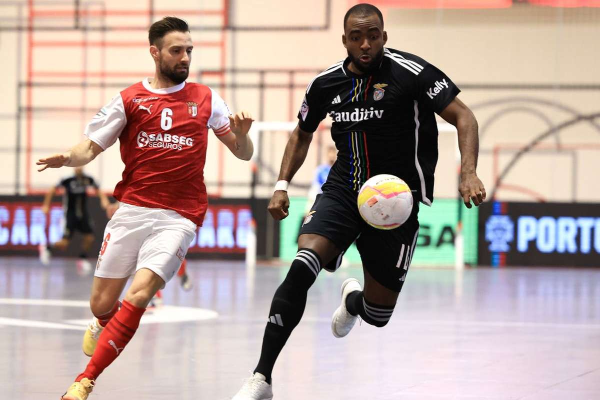
M82 378L95 380L104 371L104 368L122 353L133 334L136 333L144 311L146 311L145 308L136 307L127 300L123 301L121 310L110 319L100 334L94 355L89 360L85 371L76 378L76 382Z

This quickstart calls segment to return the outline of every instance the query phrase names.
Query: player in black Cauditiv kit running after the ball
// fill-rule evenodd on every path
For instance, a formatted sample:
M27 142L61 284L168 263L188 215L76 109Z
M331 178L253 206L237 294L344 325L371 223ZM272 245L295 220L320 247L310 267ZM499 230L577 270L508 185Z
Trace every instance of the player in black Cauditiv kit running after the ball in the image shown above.
M373 5L350 8L342 40L348 57L308 84L269 204L272 216L278 220L287 216L287 183L304 162L313 132L325 117L332 120L337 160L299 232L292 266L275 291L259 363L233 400L272 398L271 372L300 322L308 289L322 268L335 271L353 241L361 254L365 286L354 278L344 281L332 333L344 337L358 316L374 326L388 323L415 251L419 202L433 202L435 114L458 131L464 204L470 208L471 201L479 205L485 199L476 174L477 122L457 98L460 90L452 80L421 57L385 47L383 17ZM399 228L372 228L358 213L358 189L377 174L397 175L412 189L412 214Z

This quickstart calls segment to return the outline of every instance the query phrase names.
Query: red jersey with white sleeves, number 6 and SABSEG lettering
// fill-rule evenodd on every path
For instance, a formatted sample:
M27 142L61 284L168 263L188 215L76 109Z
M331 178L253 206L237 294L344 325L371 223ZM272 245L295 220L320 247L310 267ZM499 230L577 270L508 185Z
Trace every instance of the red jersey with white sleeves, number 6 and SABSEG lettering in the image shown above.
M208 86L183 82L152 89L146 78L103 107L85 135L104 150L119 139L125 170L116 199L174 210L202 225L208 205L203 174L208 128L227 134L229 115Z

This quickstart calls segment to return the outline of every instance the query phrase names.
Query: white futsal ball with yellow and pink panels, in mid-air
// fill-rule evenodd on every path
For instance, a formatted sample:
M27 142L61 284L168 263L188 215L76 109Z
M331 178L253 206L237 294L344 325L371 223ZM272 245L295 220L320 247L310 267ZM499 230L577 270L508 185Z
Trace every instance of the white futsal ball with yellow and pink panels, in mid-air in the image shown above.
M413 199L410 187L394 175L369 178L358 192L362 219L377 229L394 229L409 219Z

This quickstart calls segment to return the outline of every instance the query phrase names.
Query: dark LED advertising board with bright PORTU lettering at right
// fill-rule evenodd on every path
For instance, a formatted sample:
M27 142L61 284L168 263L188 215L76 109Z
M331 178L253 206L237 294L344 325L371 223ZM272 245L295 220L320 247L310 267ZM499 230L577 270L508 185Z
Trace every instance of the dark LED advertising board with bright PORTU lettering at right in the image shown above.
M479 264L598 266L600 204L487 202Z

